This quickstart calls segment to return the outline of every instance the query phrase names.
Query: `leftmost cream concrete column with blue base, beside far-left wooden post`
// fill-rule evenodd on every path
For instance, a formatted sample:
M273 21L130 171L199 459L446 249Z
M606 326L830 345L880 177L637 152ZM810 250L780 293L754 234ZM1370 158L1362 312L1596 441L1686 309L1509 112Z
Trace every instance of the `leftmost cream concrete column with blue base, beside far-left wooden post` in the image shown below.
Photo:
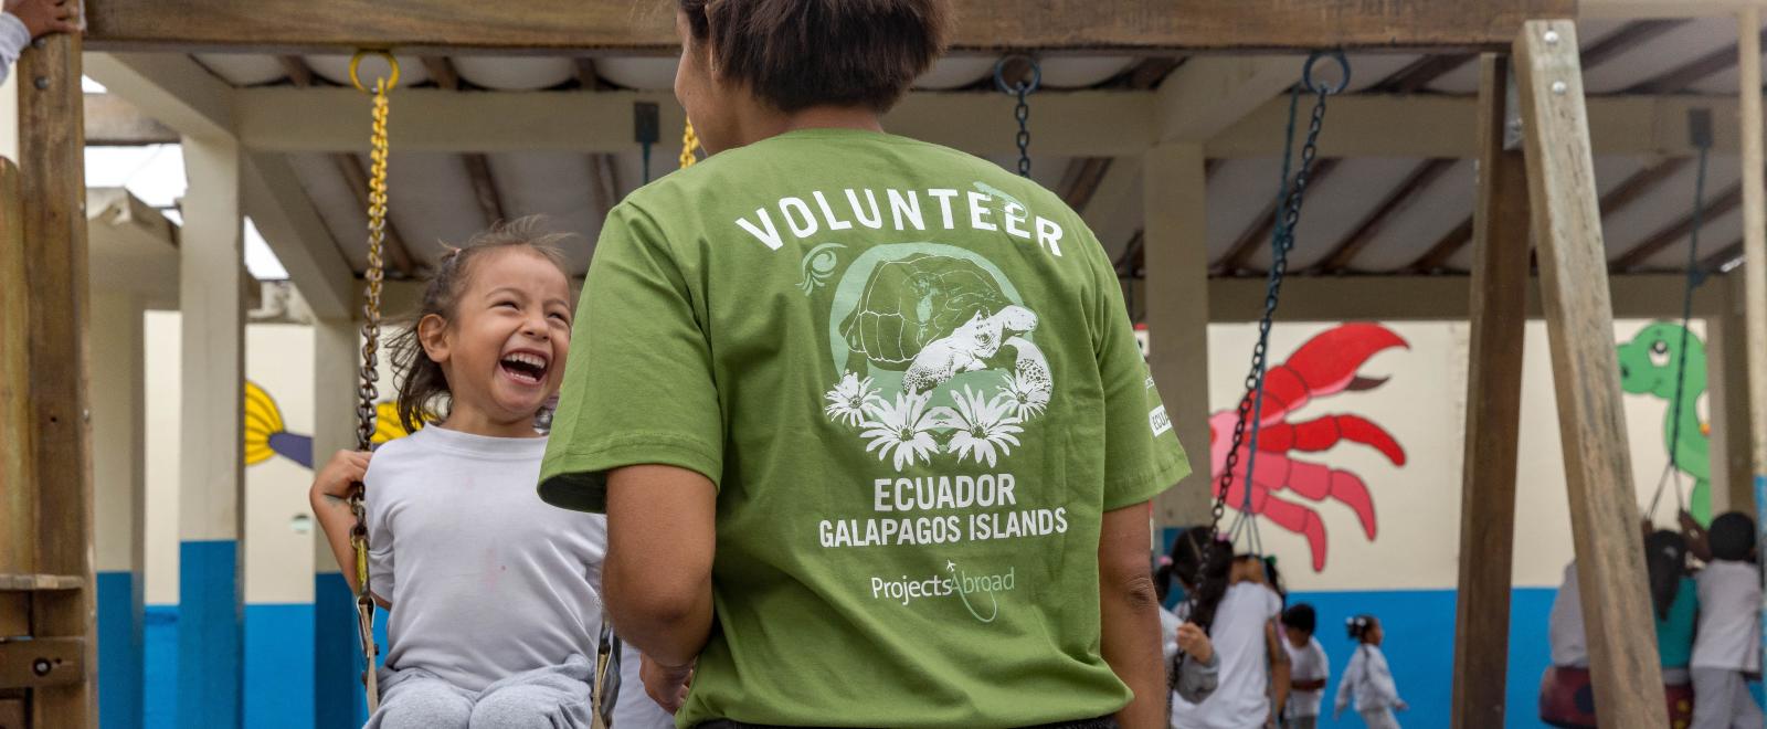
M88 386L97 557L99 717L106 729L141 725L143 518L147 393L141 303L92 290Z

